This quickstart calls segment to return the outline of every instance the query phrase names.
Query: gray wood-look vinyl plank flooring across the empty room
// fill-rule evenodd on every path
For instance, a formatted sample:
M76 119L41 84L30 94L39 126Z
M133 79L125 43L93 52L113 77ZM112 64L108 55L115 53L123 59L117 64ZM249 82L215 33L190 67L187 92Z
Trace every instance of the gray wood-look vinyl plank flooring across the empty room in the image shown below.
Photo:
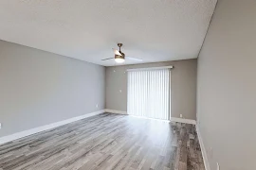
M205 170L193 125L102 113L0 145L0 170Z

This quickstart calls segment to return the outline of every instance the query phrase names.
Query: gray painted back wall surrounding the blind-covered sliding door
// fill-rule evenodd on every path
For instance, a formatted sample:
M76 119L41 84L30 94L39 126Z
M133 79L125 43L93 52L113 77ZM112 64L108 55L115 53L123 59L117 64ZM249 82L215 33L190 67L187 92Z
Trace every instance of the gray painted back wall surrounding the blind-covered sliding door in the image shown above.
M172 117L179 117L179 114L183 114L184 118L195 120L196 59L107 67L106 109L127 110L127 69L168 65L174 66L171 83Z

